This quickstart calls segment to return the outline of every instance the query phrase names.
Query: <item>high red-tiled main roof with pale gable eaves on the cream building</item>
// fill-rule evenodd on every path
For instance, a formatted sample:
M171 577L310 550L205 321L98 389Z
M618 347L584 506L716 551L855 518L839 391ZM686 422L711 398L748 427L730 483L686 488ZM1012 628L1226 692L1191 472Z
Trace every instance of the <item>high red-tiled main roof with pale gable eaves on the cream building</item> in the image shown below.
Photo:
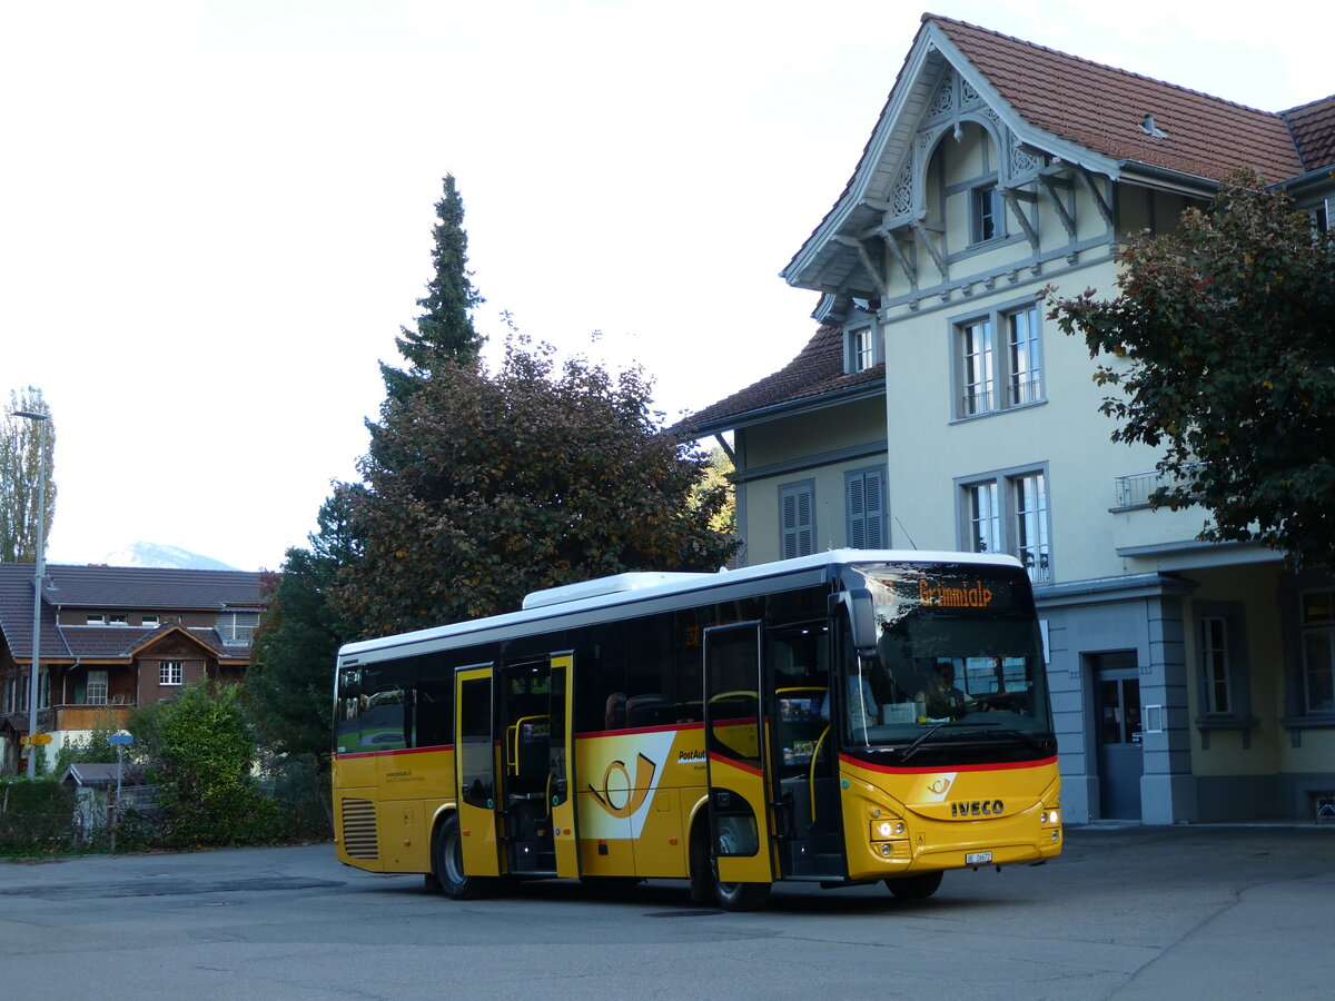
M876 295L872 287L842 287L861 271L846 243L885 216L914 135L951 71L1019 143L1113 179L1206 198L1240 167L1280 183L1335 160L1335 96L1288 112L1258 111L926 13L853 175L782 270L789 284ZM1151 125L1156 135L1145 131Z

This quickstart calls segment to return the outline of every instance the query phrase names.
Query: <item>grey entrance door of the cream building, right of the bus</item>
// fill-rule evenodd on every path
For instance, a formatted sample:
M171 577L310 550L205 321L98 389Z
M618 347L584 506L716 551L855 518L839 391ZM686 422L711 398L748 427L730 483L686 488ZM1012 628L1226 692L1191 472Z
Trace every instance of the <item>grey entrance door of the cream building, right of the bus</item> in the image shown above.
M1093 658L1099 727L1099 813L1140 819L1144 753L1140 730L1140 670L1133 651Z

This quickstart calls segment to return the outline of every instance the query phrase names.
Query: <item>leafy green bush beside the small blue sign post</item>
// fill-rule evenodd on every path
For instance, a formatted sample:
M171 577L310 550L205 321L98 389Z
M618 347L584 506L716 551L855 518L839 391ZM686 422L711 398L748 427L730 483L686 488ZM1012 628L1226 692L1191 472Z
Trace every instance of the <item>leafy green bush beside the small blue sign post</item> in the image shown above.
M135 710L127 729L148 778L162 786L168 848L272 840L278 807L252 775L255 742L234 685L183 685L176 698Z

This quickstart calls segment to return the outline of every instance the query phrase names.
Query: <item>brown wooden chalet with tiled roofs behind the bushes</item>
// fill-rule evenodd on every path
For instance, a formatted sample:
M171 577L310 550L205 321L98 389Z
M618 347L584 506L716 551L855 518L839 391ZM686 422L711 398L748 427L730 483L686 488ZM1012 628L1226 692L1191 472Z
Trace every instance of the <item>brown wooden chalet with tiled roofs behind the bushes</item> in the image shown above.
M37 730L52 759L186 682L243 678L263 607L254 573L47 565ZM33 566L0 563L0 773L19 769L28 733L32 627Z

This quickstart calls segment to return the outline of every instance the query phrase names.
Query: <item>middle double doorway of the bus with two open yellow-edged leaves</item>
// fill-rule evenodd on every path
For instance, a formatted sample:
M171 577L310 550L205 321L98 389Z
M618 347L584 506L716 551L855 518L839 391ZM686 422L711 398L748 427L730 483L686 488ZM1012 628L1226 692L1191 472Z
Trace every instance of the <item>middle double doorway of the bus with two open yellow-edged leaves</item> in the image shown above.
M469 876L578 876L569 654L458 674L459 827Z

